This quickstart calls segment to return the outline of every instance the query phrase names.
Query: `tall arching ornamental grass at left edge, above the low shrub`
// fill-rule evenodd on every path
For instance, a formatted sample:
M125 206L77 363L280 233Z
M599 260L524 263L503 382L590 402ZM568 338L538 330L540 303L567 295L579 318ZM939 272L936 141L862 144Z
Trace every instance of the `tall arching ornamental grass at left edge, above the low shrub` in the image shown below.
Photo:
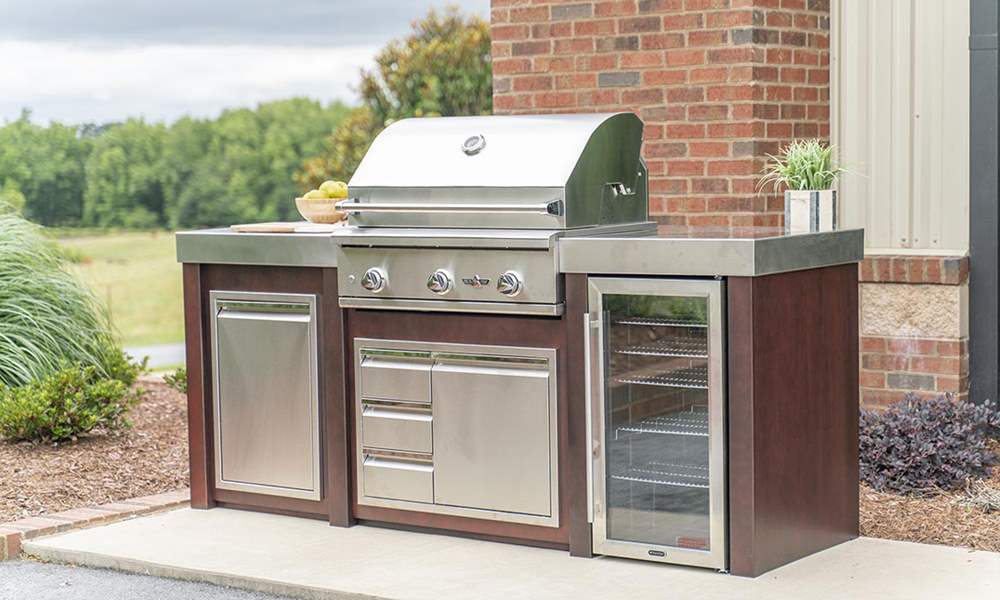
M3 211L0 211L2 213ZM107 312L35 225L0 214L0 387L66 364L114 377L123 366Z

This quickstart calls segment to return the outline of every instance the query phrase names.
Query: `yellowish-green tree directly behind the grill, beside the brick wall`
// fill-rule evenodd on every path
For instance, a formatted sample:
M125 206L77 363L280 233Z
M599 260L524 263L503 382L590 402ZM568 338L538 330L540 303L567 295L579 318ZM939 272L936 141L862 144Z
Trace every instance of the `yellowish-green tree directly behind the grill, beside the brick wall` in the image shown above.
M406 117L485 115L493 111L489 23L457 8L432 10L393 40L361 73L362 106L327 140L322 154L302 164L302 189L324 179L346 181L375 136Z

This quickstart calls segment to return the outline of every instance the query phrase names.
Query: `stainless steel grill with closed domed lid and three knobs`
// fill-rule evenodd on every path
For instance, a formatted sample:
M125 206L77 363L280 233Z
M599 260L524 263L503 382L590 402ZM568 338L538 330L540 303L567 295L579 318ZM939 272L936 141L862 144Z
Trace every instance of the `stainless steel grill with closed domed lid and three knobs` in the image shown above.
M405 119L339 207L348 308L559 315L557 242L652 234L632 113Z

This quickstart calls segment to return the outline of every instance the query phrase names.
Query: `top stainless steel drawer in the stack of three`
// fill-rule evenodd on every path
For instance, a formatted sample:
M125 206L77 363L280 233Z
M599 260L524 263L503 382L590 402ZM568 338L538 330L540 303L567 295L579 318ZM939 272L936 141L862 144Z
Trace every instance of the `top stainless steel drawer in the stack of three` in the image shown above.
M430 402L430 354L362 350L361 397Z

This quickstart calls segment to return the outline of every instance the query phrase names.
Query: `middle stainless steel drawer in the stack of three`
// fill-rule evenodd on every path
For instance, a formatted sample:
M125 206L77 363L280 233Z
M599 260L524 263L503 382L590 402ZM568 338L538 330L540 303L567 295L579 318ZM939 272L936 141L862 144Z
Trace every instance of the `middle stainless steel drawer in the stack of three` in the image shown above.
M362 400L361 442L366 448L429 454L432 450L430 406Z

